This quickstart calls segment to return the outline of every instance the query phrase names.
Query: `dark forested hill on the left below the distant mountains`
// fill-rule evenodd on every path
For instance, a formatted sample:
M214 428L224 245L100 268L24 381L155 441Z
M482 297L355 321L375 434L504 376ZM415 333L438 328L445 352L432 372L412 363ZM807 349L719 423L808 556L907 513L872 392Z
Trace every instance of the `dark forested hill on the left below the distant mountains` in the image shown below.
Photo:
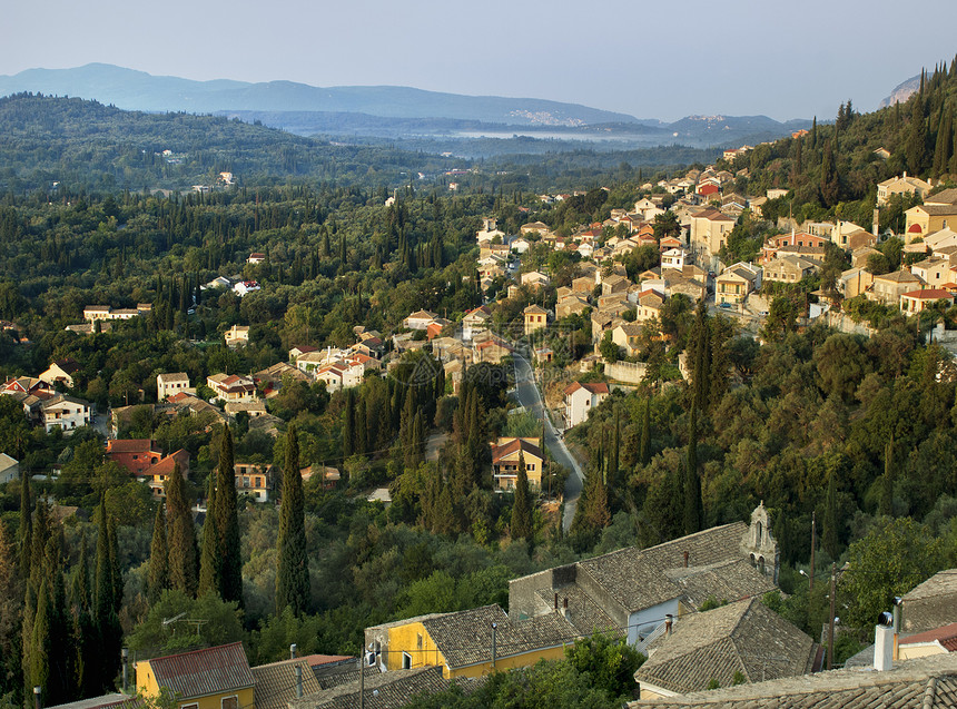
M462 166L388 147L330 145L223 117L141 114L30 93L0 99L0 191L55 181L108 190L182 189L213 184L220 171L244 184L299 177L392 185L407 183L410 173Z

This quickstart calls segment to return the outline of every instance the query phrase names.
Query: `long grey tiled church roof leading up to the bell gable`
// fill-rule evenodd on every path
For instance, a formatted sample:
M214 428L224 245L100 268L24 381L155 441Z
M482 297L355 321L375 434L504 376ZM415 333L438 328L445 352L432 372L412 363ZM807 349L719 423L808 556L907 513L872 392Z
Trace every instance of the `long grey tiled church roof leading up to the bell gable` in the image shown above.
M681 588L663 572L684 565L702 567L738 560L741 541L748 532L744 522L732 522L689 534L658 546L634 546L579 562L588 573L629 612L637 612L682 594Z

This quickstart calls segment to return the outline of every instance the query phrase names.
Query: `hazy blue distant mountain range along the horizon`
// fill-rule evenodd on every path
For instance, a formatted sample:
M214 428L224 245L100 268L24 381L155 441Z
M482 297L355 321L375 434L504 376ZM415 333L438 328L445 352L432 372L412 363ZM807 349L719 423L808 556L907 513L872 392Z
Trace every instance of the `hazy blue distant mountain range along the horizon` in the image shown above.
M0 96L39 92L96 99L128 110L217 114L298 135L467 140L524 135L561 142L633 148L681 144L736 146L783 137L808 120L766 116L698 117L673 124L578 104L534 98L462 96L395 86L320 88L292 81L250 83L157 77L112 65L28 69L0 76Z

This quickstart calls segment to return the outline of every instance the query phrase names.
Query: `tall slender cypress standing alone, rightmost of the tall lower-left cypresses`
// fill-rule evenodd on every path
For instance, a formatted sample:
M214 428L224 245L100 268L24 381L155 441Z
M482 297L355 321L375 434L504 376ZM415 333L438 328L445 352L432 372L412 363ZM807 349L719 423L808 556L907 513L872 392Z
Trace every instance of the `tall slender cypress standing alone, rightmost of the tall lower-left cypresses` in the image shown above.
M279 511L276 614L289 608L300 616L309 607L309 562L306 553L305 498L299 472L299 441L296 426L286 432L286 462L283 467L283 503Z

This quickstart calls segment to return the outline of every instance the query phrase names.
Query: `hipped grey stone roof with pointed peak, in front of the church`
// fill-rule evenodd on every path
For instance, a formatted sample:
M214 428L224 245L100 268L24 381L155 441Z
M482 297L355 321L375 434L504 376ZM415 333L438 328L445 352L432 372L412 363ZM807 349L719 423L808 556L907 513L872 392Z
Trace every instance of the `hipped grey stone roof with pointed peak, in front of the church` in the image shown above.
M682 617L651 643L634 678L684 695L712 679L729 687L738 672L749 682L805 674L816 654L810 637L752 598Z

